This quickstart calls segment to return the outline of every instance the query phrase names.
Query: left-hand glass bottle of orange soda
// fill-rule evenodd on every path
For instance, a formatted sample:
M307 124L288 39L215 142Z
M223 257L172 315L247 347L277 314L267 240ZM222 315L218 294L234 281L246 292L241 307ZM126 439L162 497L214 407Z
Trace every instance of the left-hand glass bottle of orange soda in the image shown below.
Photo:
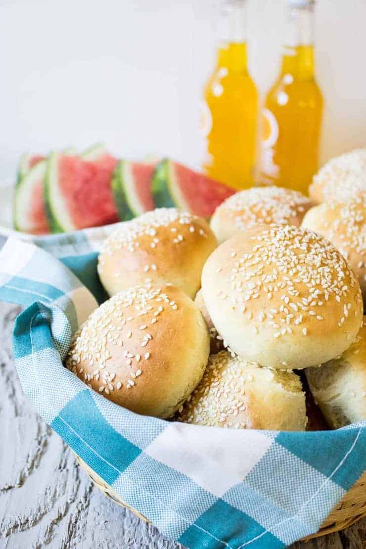
M246 0L226 0L216 68L204 89L203 169L231 187L254 182L258 94L247 68Z

